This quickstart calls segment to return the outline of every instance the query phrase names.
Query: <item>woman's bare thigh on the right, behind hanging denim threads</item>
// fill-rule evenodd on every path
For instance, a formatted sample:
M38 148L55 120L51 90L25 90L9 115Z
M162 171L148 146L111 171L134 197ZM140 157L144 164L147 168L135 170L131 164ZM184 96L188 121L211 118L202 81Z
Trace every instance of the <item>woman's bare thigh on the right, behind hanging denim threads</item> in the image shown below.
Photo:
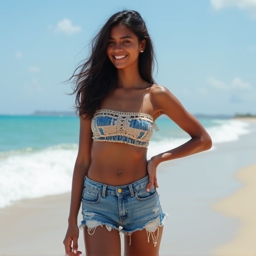
M158 256L162 230L163 226L160 226L158 232L154 231L153 237L157 238L155 246L151 233L149 233L149 242L147 241L146 229L135 231L131 235L124 235L124 256Z

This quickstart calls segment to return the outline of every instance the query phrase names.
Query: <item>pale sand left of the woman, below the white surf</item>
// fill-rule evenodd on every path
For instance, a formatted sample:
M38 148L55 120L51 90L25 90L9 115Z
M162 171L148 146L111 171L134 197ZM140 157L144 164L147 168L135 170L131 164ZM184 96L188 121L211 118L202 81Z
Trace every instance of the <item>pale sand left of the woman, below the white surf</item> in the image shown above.
M64 255L69 197L67 193L21 200L0 209L0 255Z

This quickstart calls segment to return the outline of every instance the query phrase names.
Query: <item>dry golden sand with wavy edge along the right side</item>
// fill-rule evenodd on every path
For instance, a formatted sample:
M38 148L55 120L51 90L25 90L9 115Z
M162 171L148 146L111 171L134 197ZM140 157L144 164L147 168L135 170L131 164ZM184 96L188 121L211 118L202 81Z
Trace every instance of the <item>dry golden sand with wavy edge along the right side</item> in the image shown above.
M236 218L240 226L232 240L214 249L215 255L256 255L256 163L238 170L234 177L242 187L230 196L214 203L212 208L221 214Z

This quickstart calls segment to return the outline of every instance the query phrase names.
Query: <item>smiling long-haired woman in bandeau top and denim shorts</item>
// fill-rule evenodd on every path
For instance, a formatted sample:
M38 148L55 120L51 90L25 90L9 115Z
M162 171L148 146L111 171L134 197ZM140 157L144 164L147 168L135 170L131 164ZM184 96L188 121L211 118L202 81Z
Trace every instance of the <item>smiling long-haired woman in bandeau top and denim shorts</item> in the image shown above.
M154 52L140 14L113 14L92 40L74 82L80 117L65 253L76 255L82 201L86 256L158 255L167 214L159 204L157 165L211 147L202 125L152 78ZM147 160L154 121L167 115L191 139Z

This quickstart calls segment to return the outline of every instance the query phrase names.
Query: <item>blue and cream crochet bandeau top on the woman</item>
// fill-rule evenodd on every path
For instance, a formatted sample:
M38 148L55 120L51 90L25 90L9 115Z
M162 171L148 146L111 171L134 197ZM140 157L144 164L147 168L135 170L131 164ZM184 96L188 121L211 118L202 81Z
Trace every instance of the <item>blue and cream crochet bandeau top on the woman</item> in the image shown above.
M153 128L158 130L153 117L145 113L99 109L91 119L94 141L120 142L147 147Z

